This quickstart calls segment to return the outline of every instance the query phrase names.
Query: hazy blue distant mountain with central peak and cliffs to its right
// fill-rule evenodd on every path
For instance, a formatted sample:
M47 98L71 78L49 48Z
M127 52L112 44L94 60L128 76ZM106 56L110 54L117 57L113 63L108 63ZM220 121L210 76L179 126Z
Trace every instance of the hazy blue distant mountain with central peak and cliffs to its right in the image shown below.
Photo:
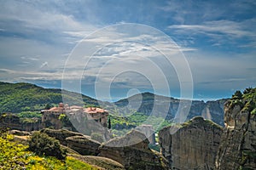
M207 102L193 100L187 120L194 116L203 116L224 126L224 103L227 100L228 99L218 99ZM183 105L183 107L187 107L189 100L174 99L151 93L136 94L127 99L121 99L115 102L115 105L124 107L126 110L127 108L138 108L137 112L142 112L148 116L152 111L155 111L154 115L165 116L163 114L166 114L167 110L165 116L166 120L172 120L175 117L178 105L180 104ZM169 108L167 106L169 106Z

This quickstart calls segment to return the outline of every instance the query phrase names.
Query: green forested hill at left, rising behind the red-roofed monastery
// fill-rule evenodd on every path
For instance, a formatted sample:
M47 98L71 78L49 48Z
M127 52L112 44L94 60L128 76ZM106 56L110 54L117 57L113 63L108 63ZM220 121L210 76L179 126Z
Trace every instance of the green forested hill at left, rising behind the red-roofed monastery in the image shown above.
M63 91L65 98L81 103L81 94ZM82 95L85 105L98 105L96 99ZM57 105L62 102L61 89L41 88L26 82L0 82L0 113L20 111L40 111L45 105ZM81 104L81 105L84 105Z

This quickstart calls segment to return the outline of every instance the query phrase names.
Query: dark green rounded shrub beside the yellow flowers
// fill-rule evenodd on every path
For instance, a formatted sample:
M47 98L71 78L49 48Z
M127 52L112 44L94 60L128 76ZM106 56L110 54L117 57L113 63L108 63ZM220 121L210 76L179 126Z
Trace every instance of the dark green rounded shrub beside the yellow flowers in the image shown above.
M46 133L33 133L28 144L28 150L35 152L38 156L55 156L60 160L66 157L66 150L61 149L60 142Z

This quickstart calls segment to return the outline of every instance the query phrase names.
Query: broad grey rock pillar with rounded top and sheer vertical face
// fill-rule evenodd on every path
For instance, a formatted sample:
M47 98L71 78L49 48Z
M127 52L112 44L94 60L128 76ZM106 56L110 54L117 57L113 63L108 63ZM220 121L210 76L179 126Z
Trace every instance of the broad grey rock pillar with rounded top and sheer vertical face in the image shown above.
M161 154L173 169L213 169L221 133L222 127L199 116L165 127L159 132Z

